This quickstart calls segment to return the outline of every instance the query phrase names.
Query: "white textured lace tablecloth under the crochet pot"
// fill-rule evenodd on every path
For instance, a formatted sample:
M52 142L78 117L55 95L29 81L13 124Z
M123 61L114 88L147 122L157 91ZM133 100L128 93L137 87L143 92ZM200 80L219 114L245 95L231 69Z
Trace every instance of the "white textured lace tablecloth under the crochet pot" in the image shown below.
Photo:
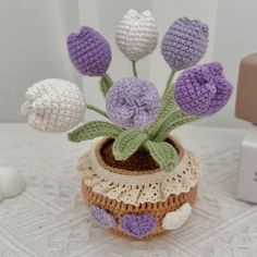
M1 257L254 257L257 206L235 199L245 131L184 126L174 134L204 166L193 216L180 230L149 242L117 237L94 223L84 206L76 160L90 143L65 134L0 125L0 166L13 166L26 191L0 204Z

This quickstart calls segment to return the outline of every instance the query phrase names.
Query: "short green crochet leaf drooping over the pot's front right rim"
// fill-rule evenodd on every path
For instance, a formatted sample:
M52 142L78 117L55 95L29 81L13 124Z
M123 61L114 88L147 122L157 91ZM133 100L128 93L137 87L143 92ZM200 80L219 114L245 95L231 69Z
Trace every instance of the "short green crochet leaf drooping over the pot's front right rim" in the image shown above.
M178 164L178 152L171 144L167 142L147 140L145 146L149 150L151 157L166 172L171 171Z

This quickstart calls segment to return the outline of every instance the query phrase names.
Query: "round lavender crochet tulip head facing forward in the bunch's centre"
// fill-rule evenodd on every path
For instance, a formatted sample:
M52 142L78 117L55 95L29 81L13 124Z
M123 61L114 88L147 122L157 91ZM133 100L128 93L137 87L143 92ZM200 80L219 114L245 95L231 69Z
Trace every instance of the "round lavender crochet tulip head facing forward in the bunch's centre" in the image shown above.
M106 109L110 120L119 126L143 130L156 120L160 96L147 81L123 78L110 88Z

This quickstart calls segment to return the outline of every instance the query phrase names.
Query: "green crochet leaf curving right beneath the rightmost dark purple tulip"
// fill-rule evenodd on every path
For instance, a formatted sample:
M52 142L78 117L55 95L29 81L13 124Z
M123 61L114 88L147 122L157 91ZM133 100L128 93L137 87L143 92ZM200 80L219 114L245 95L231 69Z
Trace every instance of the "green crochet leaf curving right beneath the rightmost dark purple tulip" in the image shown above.
M166 123L162 124L162 126L160 126L160 128L157 131L152 140L162 142L169 136L170 132L174 130L175 127L182 126L186 123L197 121L197 120L199 120L198 117L189 117L183 111L178 110L174 113L171 113L169 115Z

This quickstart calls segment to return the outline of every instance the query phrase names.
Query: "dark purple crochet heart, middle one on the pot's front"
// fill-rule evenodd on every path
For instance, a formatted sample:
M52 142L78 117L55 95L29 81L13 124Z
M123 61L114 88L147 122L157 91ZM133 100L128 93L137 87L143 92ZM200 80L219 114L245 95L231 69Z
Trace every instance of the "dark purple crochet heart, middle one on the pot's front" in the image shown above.
M121 229L124 233L144 237L156 228L156 219L151 215L124 215Z

